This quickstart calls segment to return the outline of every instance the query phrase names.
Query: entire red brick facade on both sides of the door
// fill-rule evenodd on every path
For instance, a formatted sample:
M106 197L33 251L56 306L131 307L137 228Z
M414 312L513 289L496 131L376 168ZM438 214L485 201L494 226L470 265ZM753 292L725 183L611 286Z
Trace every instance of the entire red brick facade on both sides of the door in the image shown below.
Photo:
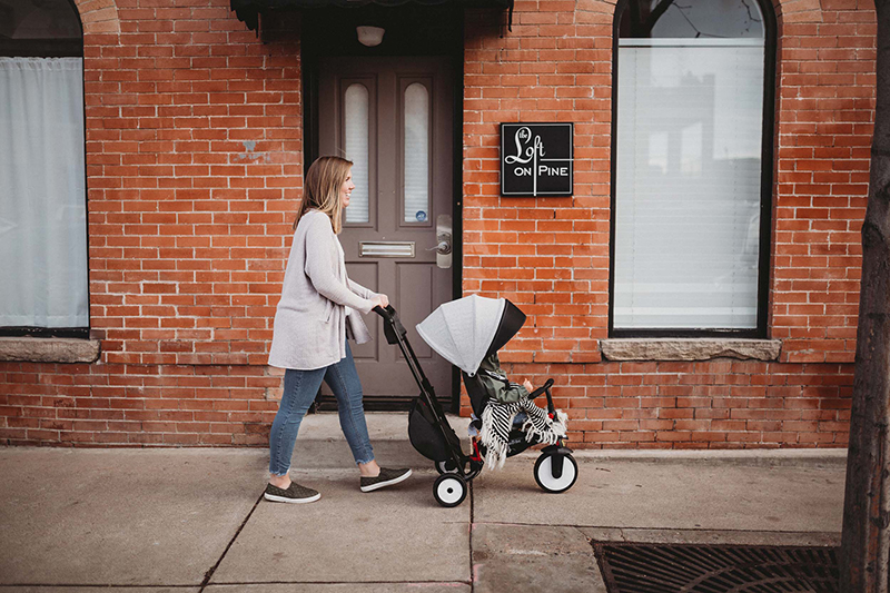
M266 445L280 373L265 363L304 165L299 43L264 45L228 0L77 4L102 354L0 363L0 439ZM503 36L467 13L463 290L530 315L504 359L556 379L574 446L846 444L874 103L866 4L775 6L774 363L601 360L615 6L517 0ZM575 122L573 197L500 197L498 123L520 120Z

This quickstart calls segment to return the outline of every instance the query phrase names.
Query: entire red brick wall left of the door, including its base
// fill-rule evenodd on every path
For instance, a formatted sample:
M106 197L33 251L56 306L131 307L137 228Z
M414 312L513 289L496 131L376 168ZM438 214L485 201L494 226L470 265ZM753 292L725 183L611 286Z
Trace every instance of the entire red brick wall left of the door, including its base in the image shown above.
M10 443L268 444L299 46L228 0L78 0L93 365L0 364Z

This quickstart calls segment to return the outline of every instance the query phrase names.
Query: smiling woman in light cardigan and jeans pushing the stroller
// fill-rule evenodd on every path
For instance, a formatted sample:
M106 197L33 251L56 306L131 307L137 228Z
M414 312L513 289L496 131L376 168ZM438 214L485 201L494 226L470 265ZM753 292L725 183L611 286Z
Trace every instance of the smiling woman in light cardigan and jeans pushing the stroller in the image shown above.
M322 382L337 397L340 428L360 474L362 492L397 484L411 470L387 470L374 459L362 383L347 337L357 344L370 339L357 312L387 306L386 295L373 293L346 276L337 239L343 209L355 189L353 164L322 157L306 172L303 202L294 220L294 244L287 260L281 299L275 314L269 365L285 368L285 386L269 434L267 501L310 503L322 495L290 481L290 456L299 424Z

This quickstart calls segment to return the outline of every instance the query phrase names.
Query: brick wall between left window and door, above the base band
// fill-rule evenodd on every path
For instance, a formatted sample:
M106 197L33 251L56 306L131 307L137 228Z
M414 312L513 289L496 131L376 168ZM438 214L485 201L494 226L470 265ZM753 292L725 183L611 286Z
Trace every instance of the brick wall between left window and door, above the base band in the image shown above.
M264 364L301 184L299 48L226 0L117 0L85 36L102 360Z

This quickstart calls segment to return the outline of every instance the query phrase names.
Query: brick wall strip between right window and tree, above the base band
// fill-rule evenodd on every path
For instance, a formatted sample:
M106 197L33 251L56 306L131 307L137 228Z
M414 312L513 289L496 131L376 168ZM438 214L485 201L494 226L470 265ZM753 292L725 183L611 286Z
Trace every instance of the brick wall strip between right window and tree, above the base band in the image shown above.
M770 325L783 360L852 363L877 26L873 3L821 4L780 28Z

